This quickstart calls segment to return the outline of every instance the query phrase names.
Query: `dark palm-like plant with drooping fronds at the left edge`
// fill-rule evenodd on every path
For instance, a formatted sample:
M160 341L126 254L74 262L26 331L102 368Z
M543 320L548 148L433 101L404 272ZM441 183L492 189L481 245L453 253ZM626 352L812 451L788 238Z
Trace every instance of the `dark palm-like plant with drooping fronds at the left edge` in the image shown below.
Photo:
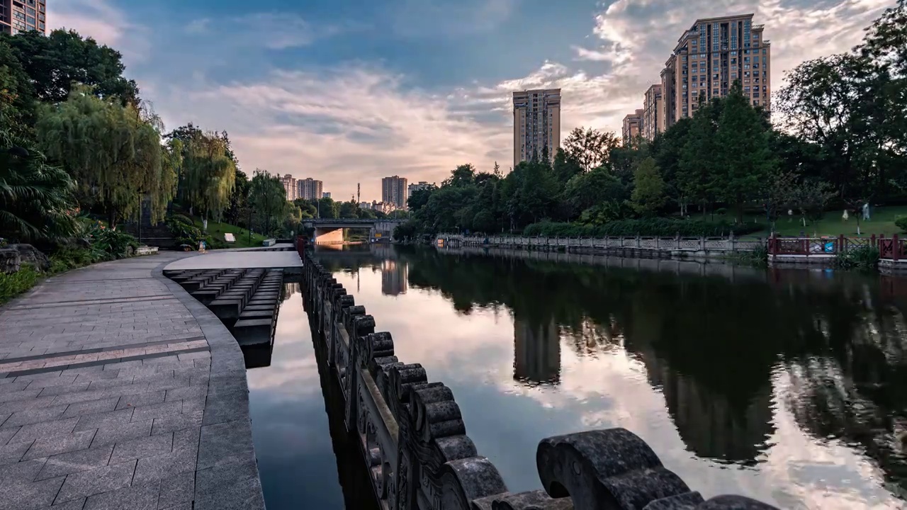
M28 154L11 147L24 147ZM0 127L0 237L28 242L73 236L74 188L63 169L47 164L44 154Z

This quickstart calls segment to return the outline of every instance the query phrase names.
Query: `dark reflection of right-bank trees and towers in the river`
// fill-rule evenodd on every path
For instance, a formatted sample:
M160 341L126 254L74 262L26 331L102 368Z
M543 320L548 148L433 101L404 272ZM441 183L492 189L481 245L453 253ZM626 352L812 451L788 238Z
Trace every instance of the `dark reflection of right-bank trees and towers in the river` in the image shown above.
M755 465L784 405L814 441L857 448L882 468L892 492L907 492L901 279L825 270L700 276L381 250L323 261L336 270L405 268L404 287L440 291L463 314L509 310L513 378L524 384L559 384L561 348L580 357L626 349L697 456Z

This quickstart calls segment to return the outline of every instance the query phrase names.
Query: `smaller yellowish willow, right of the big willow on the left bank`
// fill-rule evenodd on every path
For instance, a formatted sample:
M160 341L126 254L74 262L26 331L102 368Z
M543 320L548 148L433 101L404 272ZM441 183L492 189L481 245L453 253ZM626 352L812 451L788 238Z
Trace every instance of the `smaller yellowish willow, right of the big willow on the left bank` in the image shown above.
M236 185L236 161L227 137L193 129L188 139L171 136L171 140L183 144L180 175L181 198L186 202L183 205L206 220L212 217L220 220Z

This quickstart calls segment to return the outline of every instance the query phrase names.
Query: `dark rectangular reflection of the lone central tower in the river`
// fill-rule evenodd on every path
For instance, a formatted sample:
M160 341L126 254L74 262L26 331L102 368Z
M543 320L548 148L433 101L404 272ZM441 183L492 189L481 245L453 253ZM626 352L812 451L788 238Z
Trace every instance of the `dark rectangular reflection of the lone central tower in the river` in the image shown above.
M531 386L561 381L561 331L553 318L513 319L513 379Z

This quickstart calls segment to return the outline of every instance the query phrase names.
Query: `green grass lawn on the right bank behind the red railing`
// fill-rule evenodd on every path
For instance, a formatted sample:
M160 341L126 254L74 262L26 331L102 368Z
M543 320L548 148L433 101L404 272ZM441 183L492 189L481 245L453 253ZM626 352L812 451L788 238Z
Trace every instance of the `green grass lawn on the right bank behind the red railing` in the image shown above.
M841 234L844 234L845 237L856 237L856 217L851 214L847 221L842 219L844 211L828 211L825 212L824 218L822 221L819 221L818 224L814 224L810 221L806 221L806 226L803 226L803 223L800 220L798 215L794 215L792 218L788 218L787 215L783 218L779 218L775 223L775 229L778 232L778 235L782 236L799 236L802 231L806 236L812 237L813 234L818 234L822 236L837 237ZM860 221L860 234L861 236L871 236L875 234L876 236L885 234L885 236L891 236L892 234L899 234L907 237L907 234L901 231L897 226L894 225L894 220L902 216L907 216L907 206L892 206L892 207L878 207L870 210L870 221ZM728 218L729 220L731 218ZM765 224L765 217L756 217L750 215L746 221L758 220L760 223ZM769 229L766 227L764 230L755 232L752 234L747 234L746 237L768 237Z

